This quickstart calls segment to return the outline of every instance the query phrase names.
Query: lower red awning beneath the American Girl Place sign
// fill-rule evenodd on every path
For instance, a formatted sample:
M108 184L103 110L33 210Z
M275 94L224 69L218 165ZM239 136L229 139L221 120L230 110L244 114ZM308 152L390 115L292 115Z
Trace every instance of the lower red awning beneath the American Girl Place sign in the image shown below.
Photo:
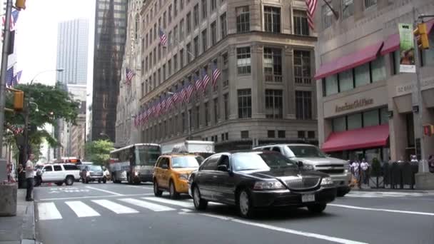
M389 137L389 125L369 126L352 131L333 132L323 144L323 151L344 151L385 146Z

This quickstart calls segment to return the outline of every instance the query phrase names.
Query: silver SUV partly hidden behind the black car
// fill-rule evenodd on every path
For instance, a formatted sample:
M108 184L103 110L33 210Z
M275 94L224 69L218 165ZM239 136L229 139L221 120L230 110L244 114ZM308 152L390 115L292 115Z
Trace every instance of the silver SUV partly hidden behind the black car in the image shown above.
M338 188L338 196L350 191L350 164L338 158L326 156L319 148L309 144L275 144L258 146L256 150L277 151L293 161L301 161L303 168L327 173Z

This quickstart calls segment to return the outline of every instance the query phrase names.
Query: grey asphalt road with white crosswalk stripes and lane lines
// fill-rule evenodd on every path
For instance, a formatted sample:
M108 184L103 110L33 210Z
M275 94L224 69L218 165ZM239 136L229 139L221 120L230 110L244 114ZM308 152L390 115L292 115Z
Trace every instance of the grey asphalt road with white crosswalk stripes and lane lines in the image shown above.
M434 193L353 191L315 215L306 209L239 218L187 195L154 198L152 185L42 185L35 188L36 235L69 243L434 243Z

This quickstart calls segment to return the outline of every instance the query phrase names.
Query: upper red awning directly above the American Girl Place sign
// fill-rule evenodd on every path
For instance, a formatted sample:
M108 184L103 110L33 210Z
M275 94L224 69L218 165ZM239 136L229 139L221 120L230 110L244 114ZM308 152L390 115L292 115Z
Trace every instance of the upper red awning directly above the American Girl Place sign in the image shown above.
M331 76L335 73L346 71L350 68L360 66L369 61L376 59L378 52L383 46L383 41L378 44L367 46L364 49L356 51L353 54L342 56L335 61L323 64L318 71L316 71L315 79L324 78L325 76Z

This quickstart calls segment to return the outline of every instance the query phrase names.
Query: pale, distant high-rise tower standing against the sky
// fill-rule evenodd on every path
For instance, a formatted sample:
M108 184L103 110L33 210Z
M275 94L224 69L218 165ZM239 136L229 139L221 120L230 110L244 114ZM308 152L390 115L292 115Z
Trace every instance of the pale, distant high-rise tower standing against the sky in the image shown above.
M57 34L57 81L86 84L89 52L89 20L74 19L59 23Z

